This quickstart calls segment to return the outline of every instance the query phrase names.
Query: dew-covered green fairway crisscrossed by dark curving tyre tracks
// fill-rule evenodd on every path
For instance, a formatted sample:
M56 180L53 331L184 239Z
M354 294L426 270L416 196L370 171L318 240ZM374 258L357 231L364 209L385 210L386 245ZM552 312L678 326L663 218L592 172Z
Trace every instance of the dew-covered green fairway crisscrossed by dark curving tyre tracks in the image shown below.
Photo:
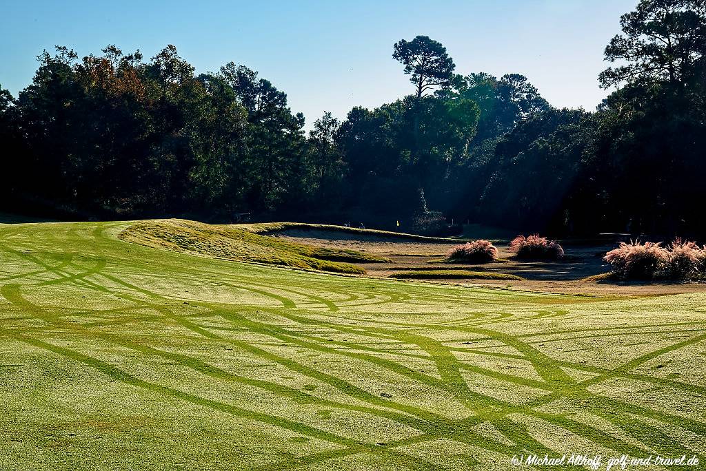
M126 226L0 226L0 469L705 454L703 294L319 274L126 243Z

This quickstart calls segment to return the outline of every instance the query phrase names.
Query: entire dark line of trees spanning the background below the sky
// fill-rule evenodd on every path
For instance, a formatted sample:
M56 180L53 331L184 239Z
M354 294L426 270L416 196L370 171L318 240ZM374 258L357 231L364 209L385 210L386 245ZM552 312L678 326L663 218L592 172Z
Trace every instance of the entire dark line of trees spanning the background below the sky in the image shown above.
M309 136L245 66L57 47L17 98L0 92L4 206L706 235L706 0L642 0L621 26L595 112L555 109L519 74L458 75L418 36L393 51L413 94Z

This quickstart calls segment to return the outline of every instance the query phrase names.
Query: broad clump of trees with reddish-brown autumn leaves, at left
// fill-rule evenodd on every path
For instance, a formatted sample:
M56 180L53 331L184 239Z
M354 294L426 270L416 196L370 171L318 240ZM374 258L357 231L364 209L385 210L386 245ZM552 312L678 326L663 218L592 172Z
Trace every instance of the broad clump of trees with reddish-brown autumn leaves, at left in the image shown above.
M172 45L147 63L56 50L16 102L22 190L118 214L266 210L302 191L304 118L253 71L196 76Z

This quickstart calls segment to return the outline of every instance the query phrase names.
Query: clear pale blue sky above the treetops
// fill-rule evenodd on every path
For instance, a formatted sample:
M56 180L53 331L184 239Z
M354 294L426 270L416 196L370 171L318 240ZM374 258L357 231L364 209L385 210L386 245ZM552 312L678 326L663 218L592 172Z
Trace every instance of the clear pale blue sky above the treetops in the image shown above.
M42 49L79 56L106 44L149 58L174 44L196 71L229 61L287 93L307 128L324 110L343 118L412 92L392 59L399 39L445 45L457 73L522 73L554 106L592 110L597 75L619 17L637 0L4 1L0 84L17 94Z

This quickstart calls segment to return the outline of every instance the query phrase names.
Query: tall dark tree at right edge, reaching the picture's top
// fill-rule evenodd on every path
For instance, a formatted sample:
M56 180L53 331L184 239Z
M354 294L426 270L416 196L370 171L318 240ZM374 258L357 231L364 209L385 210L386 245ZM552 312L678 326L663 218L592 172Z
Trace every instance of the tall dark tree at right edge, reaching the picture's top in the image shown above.
M599 106L568 216L583 231L703 235L706 5L642 0L621 26L606 47L621 65L600 80L623 87Z

